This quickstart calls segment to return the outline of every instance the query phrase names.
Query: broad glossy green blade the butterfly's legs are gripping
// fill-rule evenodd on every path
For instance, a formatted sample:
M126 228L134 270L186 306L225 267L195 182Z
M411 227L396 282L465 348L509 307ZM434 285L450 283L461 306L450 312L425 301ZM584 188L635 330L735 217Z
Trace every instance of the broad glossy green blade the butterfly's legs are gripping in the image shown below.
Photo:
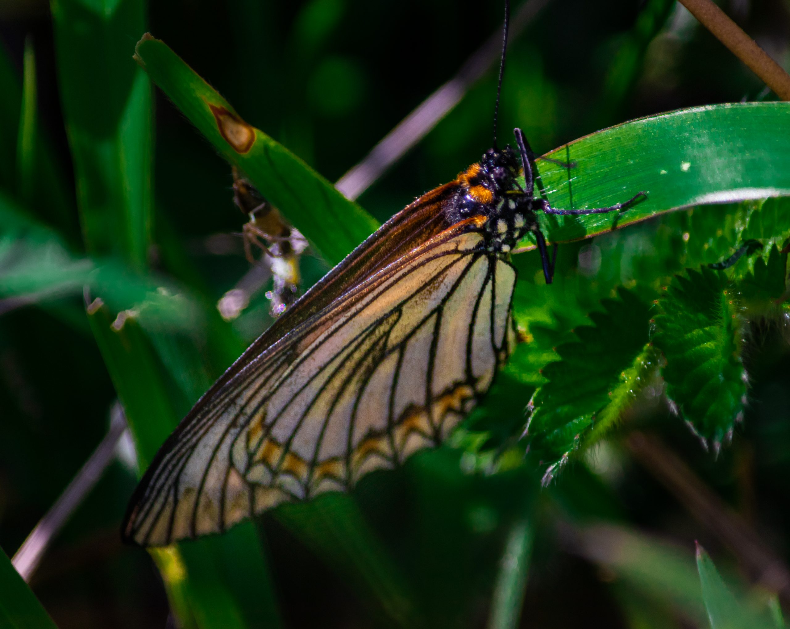
M671 209L790 194L790 103L694 107L624 122L538 160L552 207L645 202L623 213L540 217L551 242L589 238ZM528 244L525 242L525 244Z

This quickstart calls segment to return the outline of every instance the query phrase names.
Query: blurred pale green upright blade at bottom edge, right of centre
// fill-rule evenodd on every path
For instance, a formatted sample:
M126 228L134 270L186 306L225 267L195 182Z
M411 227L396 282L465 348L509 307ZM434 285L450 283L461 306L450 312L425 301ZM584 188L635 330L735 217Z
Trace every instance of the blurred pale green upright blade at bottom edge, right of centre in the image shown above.
M488 629L515 629L521 620L534 531L532 522L519 518L510 527L491 601Z

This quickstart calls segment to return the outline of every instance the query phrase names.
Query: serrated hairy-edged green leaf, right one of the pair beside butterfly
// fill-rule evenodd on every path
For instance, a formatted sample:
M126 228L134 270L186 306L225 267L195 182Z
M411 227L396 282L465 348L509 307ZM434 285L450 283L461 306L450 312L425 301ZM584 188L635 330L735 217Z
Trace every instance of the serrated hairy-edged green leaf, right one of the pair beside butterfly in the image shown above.
M735 289L720 271L688 269L659 299L653 343L664 353L667 395L707 445L718 450L743 416L743 320Z

